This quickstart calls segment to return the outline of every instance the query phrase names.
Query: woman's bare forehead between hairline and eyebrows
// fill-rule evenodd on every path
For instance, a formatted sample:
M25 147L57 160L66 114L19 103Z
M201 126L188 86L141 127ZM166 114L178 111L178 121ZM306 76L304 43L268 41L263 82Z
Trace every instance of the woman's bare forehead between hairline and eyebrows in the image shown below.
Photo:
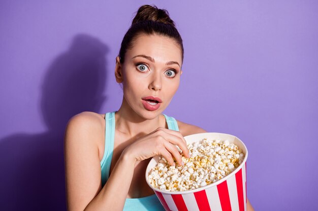
M139 35L133 43L133 48L126 51L126 58L130 60L141 54L152 57L155 62L182 63L182 52L179 45L174 39L163 35Z

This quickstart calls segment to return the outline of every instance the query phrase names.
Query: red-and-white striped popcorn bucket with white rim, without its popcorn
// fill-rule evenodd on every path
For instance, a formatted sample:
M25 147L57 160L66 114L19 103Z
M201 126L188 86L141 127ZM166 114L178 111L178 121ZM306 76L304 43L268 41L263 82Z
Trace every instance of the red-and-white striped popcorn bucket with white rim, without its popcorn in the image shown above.
M148 185L168 211L246 211L246 159L248 155L246 146L240 139L229 134L201 133L184 137L187 144L199 142L204 138L228 140L230 143L234 143L245 155L242 163L226 177L207 186L187 191L166 191L152 187L148 181L150 170L160 160L160 156L155 156L150 160L146 169Z

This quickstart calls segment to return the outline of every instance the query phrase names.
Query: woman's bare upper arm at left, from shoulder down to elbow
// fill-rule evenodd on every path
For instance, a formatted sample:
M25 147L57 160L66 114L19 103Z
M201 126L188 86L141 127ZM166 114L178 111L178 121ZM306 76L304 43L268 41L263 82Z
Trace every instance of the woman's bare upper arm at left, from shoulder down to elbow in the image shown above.
M68 122L64 137L68 210L84 210L101 189L98 142L103 115L82 112Z

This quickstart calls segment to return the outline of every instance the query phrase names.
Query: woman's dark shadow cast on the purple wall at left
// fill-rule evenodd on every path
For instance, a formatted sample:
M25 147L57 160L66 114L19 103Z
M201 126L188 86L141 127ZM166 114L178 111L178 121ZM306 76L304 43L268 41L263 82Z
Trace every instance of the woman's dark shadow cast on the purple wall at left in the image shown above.
M65 127L75 114L99 112L105 103L107 52L97 38L79 34L46 71L41 111L48 131L0 141L0 210L66 210Z

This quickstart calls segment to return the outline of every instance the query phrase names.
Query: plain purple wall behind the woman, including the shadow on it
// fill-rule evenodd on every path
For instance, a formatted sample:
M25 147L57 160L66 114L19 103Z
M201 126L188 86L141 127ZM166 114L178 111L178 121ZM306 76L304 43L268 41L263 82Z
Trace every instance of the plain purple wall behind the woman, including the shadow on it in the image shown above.
M256 210L317 210L315 1L2 1L0 210L65 210L66 122L119 108L115 57L142 4L184 41L165 113L246 144Z

